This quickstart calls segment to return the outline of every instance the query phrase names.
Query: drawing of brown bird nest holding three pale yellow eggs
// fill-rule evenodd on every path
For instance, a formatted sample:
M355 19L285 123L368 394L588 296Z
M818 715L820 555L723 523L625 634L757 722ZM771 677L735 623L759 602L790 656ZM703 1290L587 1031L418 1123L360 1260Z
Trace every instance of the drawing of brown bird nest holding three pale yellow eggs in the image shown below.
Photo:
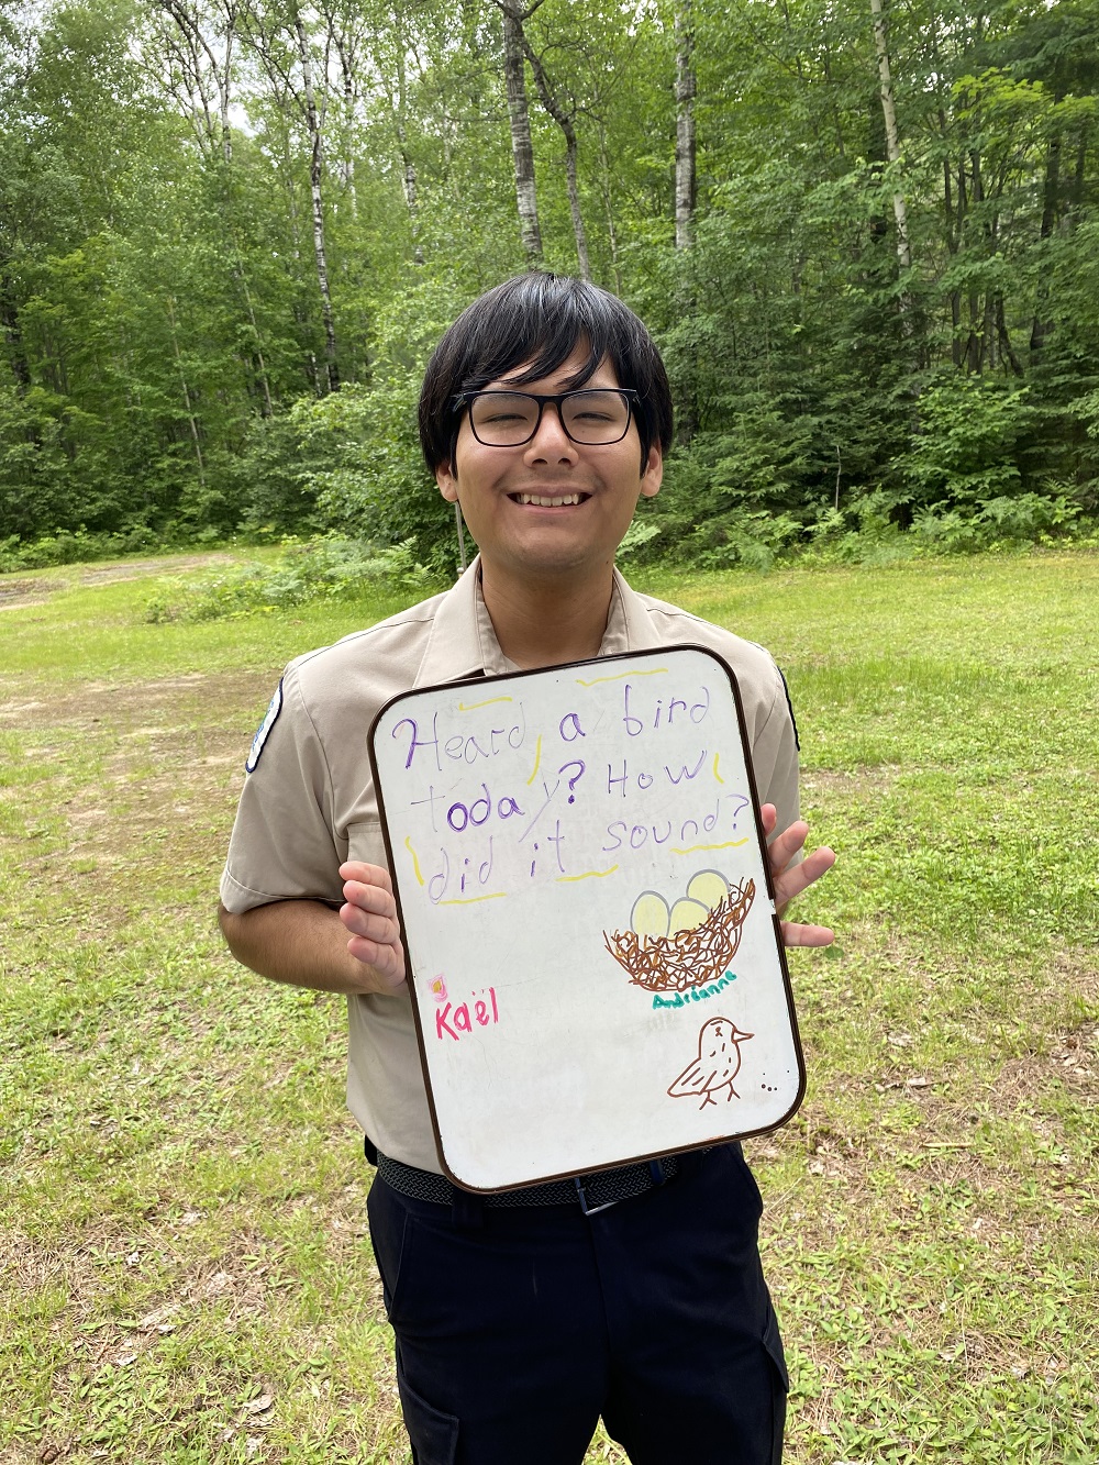
M605 930L607 949L639 987L686 992L714 982L740 945L756 882L734 885L719 870L699 870L684 900L668 908L662 895L645 891L633 902L629 930Z

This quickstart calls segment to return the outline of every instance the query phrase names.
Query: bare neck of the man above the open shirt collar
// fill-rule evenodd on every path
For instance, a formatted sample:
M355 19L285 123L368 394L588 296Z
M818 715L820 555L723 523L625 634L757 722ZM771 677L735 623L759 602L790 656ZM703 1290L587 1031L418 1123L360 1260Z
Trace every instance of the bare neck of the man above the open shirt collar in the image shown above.
M511 576L482 564L481 592L500 649L523 671L598 656L614 589L614 567L598 574Z

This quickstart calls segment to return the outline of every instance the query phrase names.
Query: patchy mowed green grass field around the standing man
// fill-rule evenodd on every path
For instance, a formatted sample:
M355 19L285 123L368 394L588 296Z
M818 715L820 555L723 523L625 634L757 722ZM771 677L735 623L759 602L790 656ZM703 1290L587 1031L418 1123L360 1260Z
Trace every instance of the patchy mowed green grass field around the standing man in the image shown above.
M343 1004L214 919L281 664L397 602L147 624L173 573L0 579L0 1461L404 1462ZM840 853L747 1146L787 1461L1093 1462L1099 558L637 583L774 650Z

